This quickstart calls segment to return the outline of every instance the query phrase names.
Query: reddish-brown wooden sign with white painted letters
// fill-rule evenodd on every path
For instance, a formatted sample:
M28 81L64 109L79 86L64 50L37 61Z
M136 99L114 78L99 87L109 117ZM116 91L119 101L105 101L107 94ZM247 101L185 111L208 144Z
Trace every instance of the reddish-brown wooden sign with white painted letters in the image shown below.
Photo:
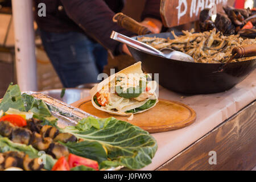
M161 0L160 14L164 26L174 27L199 20L201 10L210 8L222 11L222 7L233 6L235 0Z

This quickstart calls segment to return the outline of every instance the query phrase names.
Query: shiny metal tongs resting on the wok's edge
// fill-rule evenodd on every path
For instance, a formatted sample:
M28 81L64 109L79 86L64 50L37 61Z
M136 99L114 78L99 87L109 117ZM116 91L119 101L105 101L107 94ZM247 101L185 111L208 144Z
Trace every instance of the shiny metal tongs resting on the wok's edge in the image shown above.
M175 51L171 48L163 48L160 51L158 51L158 49L155 49L154 47L149 46L148 44L139 42L135 39L131 39L115 31L112 31L110 38L117 40L118 42L121 42L123 44L126 44L127 46L138 49L139 51L151 53L152 55L161 56L172 60L194 62L194 59L191 56L183 52Z

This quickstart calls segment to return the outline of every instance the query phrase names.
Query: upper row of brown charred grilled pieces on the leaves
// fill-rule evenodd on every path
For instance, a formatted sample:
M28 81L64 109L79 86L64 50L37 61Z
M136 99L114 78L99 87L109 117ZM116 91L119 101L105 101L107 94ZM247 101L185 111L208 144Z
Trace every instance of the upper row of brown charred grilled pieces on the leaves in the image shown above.
M38 119L30 119L27 123L28 125L24 128L15 127L10 122L2 121L0 122L0 135L10 138L16 143L31 144L37 150L46 151L56 159L69 154L68 148L57 141L64 143L77 141L72 134L59 133L59 130L53 126L40 125L41 121Z

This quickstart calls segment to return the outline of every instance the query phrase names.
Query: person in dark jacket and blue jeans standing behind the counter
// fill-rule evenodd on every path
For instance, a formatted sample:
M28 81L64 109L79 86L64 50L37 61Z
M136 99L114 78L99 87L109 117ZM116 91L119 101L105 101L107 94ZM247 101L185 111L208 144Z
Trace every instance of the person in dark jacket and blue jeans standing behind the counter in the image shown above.
M108 63L106 50L113 55L129 54L127 47L110 39L112 31L133 33L112 21L123 8L121 0L34 0L46 4L46 17L35 13L44 49L65 88L97 82ZM154 33L162 28L160 0L147 0L142 24ZM35 11L36 12L36 11ZM154 23L149 26L148 21Z

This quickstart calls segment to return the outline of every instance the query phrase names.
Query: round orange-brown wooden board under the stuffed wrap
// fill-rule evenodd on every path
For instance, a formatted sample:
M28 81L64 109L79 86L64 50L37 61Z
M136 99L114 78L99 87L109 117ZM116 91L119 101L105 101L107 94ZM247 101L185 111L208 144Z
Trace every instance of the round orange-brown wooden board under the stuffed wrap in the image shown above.
M176 101L159 100L158 104L152 109L134 114L134 118L131 121L127 120L129 116L112 115L96 109L93 107L90 97L74 102L71 105L100 118L115 117L119 120L127 121L149 133L180 129L191 125L196 120L196 113L193 109Z

